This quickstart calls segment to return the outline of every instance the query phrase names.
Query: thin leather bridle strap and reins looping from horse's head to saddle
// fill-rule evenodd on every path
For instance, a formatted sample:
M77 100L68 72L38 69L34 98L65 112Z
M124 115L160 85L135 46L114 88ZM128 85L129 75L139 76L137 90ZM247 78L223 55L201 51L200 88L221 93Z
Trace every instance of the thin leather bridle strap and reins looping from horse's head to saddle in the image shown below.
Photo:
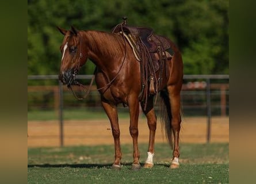
M125 37L124 37L123 24L121 23L120 26L121 26L121 30L122 30L122 36L123 36L123 40L124 40L124 45L125 45L124 59L123 59L123 61L122 61L121 64L120 64L119 71L117 71L116 76L114 76L114 78L113 78L109 83L107 83L105 86L100 87L100 88L97 88L97 89L96 89L97 91L102 90L102 89L104 89L105 87L110 86L110 85L114 82L114 80L117 78L117 76L119 75L119 72L121 71L121 68L123 68L124 60L125 60L125 57L126 57L126 55L127 55L127 45L126 45ZM78 35L79 35L79 34L78 34ZM95 75L93 75L93 77L91 78L91 82L90 82L90 85L89 85L89 89L88 89L88 90L86 90L86 88L85 88L81 83L79 83L78 81L75 81L75 76L77 75L77 72L79 71L79 68L80 68L80 60L81 60L81 58L83 57L83 55L82 55L82 39L81 39L81 36L80 36L80 35L79 35L79 37L80 37L79 62L78 62L78 67L75 69L75 72L74 72L74 74L73 74L72 80L74 80L74 85L79 86L80 88L83 88L83 91L85 91L86 94L85 94L83 97L80 98L80 97L78 97L78 96L74 93L74 91L72 90L71 85L68 86L68 89L70 89L70 90L72 91L72 94L74 95L75 98L77 98L78 100L82 100L82 99L85 99L85 98L87 97L87 95L89 95L91 86L93 85L93 82L94 82L94 79L95 79ZM94 73L95 73L95 71L94 71Z

